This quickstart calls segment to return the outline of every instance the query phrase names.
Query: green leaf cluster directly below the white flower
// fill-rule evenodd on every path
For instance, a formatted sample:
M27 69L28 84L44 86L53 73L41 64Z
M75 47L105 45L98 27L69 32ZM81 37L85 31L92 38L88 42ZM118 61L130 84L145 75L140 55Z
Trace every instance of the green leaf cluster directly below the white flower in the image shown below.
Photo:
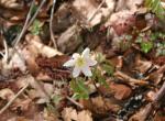
M89 99L89 89L84 84L84 78L76 78L70 81L70 88L74 91L73 98L75 99Z

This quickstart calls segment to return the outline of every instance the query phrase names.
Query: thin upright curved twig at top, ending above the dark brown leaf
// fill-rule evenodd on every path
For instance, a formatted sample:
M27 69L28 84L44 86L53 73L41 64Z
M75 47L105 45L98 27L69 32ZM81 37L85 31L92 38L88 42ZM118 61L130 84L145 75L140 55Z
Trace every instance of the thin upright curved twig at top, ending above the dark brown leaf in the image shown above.
M53 41L54 47L57 50L57 42L54 38L54 33L53 33L53 13L54 13L55 4L56 4L56 0L53 0L53 7L51 11L51 19L50 19L50 33L51 33L51 38Z

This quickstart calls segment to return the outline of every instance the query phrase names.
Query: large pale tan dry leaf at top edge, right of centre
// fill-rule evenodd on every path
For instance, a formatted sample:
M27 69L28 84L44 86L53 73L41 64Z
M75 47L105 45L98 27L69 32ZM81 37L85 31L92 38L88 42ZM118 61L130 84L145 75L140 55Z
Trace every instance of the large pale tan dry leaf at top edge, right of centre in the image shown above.
M81 14L80 21L87 26L95 26L99 24L102 18L107 18L113 11L114 0L105 0L107 8L99 7L95 0L75 0L73 7L76 9L75 14Z

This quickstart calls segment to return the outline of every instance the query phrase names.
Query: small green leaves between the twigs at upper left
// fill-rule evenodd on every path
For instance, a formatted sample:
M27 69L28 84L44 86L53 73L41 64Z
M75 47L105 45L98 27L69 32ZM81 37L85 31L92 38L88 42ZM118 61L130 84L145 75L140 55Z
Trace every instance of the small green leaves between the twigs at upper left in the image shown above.
M43 26L43 23L38 20L35 20L32 26L30 28L30 32L33 35L38 35L42 32L42 26Z

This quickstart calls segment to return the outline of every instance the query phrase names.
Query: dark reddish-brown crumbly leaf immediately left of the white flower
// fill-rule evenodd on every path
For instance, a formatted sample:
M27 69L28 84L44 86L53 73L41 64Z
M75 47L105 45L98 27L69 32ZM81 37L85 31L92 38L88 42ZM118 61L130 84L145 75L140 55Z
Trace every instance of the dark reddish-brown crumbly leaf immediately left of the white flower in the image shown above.
M64 63L69 59L69 56L62 55L51 58L37 57L36 63L41 69L37 78L40 79L66 79L69 78L70 72L64 68ZM42 77L38 77L42 76Z

